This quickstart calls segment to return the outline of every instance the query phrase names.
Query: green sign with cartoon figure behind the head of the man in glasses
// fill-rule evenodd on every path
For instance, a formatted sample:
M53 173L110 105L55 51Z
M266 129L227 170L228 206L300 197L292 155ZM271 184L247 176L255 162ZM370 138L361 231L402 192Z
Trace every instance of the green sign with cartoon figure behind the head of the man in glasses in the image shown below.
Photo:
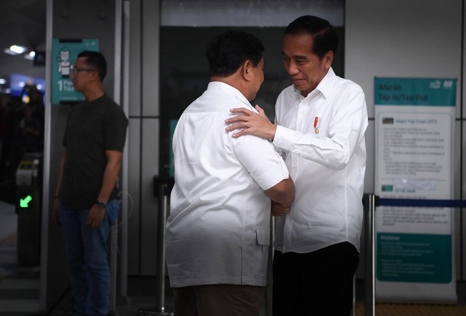
M70 78L74 61L82 51L99 51L99 40L52 40L52 104L84 100L84 96L74 90Z

